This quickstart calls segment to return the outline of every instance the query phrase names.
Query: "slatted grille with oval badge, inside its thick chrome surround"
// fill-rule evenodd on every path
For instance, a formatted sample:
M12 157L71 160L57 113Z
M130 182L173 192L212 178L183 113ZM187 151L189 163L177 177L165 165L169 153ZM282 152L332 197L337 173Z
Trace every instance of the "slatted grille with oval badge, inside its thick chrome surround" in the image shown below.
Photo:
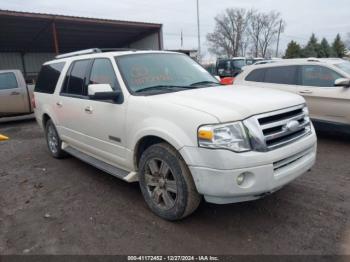
M310 119L303 108L302 105L258 116L268 150L279 148L310 133Z

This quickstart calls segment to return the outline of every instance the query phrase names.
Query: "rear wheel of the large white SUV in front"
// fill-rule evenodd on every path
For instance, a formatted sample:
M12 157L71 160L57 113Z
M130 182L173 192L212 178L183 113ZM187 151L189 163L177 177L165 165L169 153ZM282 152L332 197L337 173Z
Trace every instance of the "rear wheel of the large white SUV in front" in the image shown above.
M54 158L64 158L67 153L62 150L62 140L58 136L55 124L49 119L45 126L47 147Z

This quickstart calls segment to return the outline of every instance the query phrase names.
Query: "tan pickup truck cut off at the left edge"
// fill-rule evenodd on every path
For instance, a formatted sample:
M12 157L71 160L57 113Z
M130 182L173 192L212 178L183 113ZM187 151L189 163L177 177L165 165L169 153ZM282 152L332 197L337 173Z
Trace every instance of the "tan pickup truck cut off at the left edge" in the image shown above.
M33 92L20 70L0 70L0 117L32 114Z

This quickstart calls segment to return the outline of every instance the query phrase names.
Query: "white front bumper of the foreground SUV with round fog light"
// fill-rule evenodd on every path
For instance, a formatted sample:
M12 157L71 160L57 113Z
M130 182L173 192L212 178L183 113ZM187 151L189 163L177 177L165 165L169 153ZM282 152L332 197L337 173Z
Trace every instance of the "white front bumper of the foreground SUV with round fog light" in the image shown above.
M273 193L312 168L317 138L311 135L270 152L234 153L184 147L180 150L197 190L207 202L228 204ZM239 185L237 177L245 174Z

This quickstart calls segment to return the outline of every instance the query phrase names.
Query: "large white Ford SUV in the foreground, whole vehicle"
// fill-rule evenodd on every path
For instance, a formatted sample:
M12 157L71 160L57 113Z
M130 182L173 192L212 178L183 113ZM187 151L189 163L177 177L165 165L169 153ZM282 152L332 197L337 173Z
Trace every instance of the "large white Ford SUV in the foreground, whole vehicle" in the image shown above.
M139 181L168 220L191 214L202 196L226 204L275 192L316 158L301 96L220 86L183 54L71 53L43 65L35 90L54 157Z

